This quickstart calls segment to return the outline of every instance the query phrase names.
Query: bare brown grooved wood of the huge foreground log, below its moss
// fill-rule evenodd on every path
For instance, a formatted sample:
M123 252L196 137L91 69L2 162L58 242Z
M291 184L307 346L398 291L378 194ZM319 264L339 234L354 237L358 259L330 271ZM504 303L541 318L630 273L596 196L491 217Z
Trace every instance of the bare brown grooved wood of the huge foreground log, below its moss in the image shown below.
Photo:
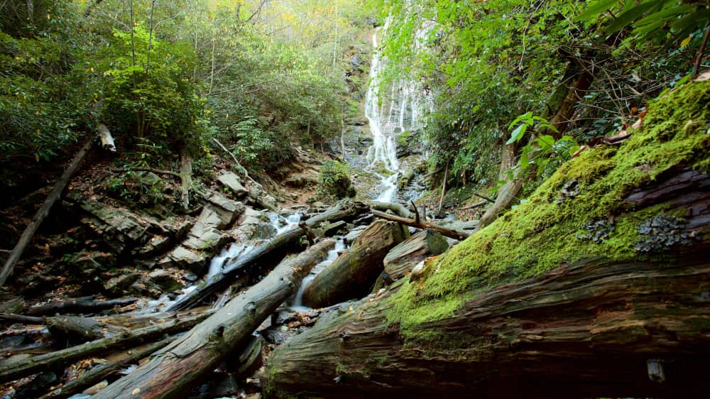
M706 396L709 284L707 261L565 266L423 324L447 337L428 346L405 345L381 297L276 349L262 381L270 398Z

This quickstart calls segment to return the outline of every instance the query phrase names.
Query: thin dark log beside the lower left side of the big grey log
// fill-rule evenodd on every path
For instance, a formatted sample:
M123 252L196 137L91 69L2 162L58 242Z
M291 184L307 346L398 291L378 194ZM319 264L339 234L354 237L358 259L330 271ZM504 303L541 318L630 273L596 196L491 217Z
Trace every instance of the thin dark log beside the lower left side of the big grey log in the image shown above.
M151 354L153 354L153 352L170 344L170 342L174 339L175 337L169 337L163 339L163 341L153 342L152 344L148 344L142 348L133 349L129 351L128 354L126 354L126 356L124 356L123 358L117 361L112 361L111 363L96 366L91 370L87 371L87 373L85 373L80 378L70 381L65 386L62 386L59 389L50 391L46 395L42 396L40 399L69 398L72 395L81 393L84 389L90 388L96 385L97 383L100 383L104 380L104 378L120 371L122 368L125 368L130 364L138 363L139 360L145 358L146 356L150 356Z

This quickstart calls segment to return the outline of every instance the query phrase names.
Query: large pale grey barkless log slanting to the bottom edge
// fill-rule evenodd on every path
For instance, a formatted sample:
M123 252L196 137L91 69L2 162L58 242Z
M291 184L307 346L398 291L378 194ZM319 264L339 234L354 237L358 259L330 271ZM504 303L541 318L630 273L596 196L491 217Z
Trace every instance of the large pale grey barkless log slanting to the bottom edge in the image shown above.
M280 263L261 282L229 301L209 319L153 356L94 399L184 398L186 389L212 372L290 295L302 278L327 256L326 239Z

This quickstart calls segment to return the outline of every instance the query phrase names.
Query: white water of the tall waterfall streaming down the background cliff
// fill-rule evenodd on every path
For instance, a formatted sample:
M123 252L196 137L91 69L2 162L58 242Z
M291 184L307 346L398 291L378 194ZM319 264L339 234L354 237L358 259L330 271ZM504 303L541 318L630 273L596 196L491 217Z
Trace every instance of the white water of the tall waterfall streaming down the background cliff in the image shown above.
M391 18L388 17L382 28L386 35ZM422 26L417 31L417 46L423 45L430 26ZM397 159L396 135L420 128L419 119L422 107L431 106L428 92L415 80L398 80L389 85L386 95L381 95L381 74L387 62L378 47L378 28L372 35L373 55L370 67L370 83L365 97L365 116L370 125L373 141L368 148L367 160L370 170L384 168L387 173L377 173L380 177L379 192L376 201L393 202L397 198L397 179L400 164Z

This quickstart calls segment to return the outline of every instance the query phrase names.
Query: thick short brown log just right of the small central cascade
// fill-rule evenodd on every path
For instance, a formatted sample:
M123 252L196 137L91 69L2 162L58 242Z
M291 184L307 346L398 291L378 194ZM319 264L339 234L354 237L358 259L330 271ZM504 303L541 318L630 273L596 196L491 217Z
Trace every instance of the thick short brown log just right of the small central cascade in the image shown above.
M322 270L303 292L303 303L326 307L364 297L383 270L383 259L409 232L398 223L378 220L365 229L353 246Z

